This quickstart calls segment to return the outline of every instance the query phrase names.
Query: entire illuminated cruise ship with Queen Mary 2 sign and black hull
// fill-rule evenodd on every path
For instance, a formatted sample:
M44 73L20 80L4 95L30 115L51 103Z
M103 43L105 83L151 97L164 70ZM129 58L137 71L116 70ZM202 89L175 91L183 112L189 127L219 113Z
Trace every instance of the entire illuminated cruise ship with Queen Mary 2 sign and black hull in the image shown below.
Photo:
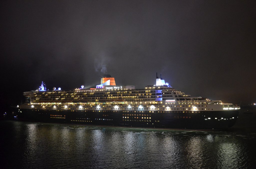
M231 127L239 106L191 97L156 76L143 89L117 86L104 75L96 88L24 92L27 102L17 106L17 118L46 123L165 129L220 130Z

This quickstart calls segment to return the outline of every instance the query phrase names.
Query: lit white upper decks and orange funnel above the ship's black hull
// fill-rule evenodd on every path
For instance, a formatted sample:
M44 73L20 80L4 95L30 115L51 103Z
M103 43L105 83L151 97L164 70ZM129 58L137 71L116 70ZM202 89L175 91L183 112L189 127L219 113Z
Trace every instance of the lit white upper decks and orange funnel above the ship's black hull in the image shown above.
M104 78L102 84L97 85L97 88L93 89L84 89L82 85L82 88L73 90L61 90L60 88L56 90L54 88L54 90L24 92L24 95L30 104L40 105L161 105L170 107L180 106L179 110L188 110L191 109L191 106L194 107L194 105L200 107L203 105L212 105L212 107L221 105L218 106L218 109L223 108L223 110L233 106L232 104L223 104L221 101L211 101L202 97L191 97L184 92L172 88L162 78L159 79L158 77L156 85L146 86L141 89L135 89L135 86L131 85L110 85L110 80L112 80L112 84L115 84L115 81L113 81L113 77L109 80L108 78ZM210 110L210 108L208 109Z

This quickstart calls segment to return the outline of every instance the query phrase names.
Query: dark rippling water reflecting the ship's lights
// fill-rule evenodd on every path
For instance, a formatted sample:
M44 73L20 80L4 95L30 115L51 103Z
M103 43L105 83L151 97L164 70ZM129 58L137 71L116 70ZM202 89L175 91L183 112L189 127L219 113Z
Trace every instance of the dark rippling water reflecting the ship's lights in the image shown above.
M254 168L255 117L228 131L1 121L0 168Z

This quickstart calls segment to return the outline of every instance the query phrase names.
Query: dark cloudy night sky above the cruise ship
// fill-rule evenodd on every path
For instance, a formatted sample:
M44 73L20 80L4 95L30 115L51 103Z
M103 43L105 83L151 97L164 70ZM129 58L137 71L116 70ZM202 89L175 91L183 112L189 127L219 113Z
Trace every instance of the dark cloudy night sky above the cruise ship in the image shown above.
M22 92L95 87L110 74L142 88L256 102L256 1L1 1L1 104Z

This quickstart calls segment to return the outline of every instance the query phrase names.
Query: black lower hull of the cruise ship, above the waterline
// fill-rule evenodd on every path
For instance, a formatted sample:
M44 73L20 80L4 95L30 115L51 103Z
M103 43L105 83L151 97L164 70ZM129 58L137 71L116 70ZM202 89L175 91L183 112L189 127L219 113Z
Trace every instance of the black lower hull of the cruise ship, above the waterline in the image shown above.
M95 125L116 127L223 130L232 127L238 117L237 111L170 111L150 113L148 111L81 111L81 110L35 110L15 109L18 120ZM210 118L210 119L209 119ZM215 119L217 118L217 119Z

